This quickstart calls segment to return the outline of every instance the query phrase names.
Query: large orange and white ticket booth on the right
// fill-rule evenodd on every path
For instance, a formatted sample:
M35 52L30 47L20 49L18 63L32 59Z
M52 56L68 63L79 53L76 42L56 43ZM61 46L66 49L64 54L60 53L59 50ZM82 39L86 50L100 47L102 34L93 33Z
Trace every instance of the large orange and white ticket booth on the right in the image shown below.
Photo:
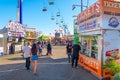
M120 61L120 2L97 1L78 14L77 26L82 44L79 64L99 78L112 80L114 75L103 67L107 61Z

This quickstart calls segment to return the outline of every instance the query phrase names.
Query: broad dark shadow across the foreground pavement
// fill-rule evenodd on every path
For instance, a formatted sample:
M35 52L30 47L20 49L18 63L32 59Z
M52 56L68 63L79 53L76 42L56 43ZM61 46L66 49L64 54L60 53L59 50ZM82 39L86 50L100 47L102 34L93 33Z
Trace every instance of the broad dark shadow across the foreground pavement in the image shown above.
M9 60L21 60L12 58ZM83 68L71 68L67 58L52 59L42 56L38 60L37 76L25 69L25 63L0 66L0 80L98 80Z

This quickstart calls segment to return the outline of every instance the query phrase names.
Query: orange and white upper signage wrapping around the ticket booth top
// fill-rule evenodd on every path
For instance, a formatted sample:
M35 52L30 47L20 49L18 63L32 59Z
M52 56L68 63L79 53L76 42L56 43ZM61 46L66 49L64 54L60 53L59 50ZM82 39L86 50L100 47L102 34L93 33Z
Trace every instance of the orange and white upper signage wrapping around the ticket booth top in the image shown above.
M120 2L99 0L77 16L78 32L120 29Z

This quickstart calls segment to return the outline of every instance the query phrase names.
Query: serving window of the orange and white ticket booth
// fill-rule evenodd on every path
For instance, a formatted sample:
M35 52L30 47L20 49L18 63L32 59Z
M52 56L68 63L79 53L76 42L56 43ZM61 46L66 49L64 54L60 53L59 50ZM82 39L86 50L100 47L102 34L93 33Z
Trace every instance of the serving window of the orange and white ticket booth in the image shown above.
M88 57L98 59L98 37L82 36L82 53Z

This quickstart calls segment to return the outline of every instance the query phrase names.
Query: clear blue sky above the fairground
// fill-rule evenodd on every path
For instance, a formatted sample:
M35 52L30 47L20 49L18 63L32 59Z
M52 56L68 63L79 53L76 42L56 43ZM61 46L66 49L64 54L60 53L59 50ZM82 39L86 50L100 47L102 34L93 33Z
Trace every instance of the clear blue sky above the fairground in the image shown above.
M54 5L49 5L49 1L54 1ZM97 0L89 0L89 5ZM86 5L87 0L83 0ZM28 27L37 28L45 34L54 33L54 30L60 29L56 21L60 23L63 18L70 32L73 34L73 15L80 13L80 7L72 10L72 5L80 5L80 0L23 0L23 24ZM47 12L43 12L43 7ZM60 17L56 13L60 10ZM6 26L9 20L17 20L17 0L0 0L0 29ZM55 20L51 20L54 16Z

